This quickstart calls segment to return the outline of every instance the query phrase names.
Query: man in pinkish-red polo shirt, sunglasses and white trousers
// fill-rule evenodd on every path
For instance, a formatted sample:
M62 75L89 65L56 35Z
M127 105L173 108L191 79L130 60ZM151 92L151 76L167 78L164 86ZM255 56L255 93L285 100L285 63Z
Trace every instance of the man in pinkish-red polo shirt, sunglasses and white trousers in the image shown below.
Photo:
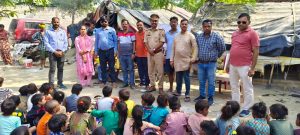
M259 36L249 26L250 16L242 13L238 17L238 30L232 34L230 49L230 86L232 100L240 102L239 80L244 89L244 105L240 117L250 114L249 108L254 101L252 77L259 54Z

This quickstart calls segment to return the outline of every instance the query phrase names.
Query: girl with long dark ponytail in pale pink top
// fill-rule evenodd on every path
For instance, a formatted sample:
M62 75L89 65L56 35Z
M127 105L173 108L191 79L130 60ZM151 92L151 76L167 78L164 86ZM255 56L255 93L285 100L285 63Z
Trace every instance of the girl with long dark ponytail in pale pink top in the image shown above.
M153 125L152 123L143 121L143 107L141 105L135 105L132 109L132 118L127 118L124 125L124 135L141 135L145 129L154 129L159 131L160 127Z

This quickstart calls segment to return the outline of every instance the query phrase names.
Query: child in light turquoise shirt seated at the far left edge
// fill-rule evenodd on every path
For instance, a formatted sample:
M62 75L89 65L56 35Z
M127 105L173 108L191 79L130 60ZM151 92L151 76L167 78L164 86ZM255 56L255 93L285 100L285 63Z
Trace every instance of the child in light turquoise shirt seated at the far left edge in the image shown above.
M21 126L21 119L16 116L12 116L12 113L16 110L16 104L14 100L8 98L1 104L2 115L0 115L0 133L1 135L9 135L15 128Z

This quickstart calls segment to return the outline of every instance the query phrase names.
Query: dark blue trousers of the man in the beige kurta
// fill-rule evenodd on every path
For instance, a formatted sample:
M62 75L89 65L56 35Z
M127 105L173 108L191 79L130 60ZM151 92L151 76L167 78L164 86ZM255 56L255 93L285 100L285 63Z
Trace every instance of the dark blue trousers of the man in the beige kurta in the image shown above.
M183 79L184 79L185 89L186 89L185 96L189 96L190 95L190 86L191 86L190 70L176 72L176 84L177 84L176 91L178 94L181 94Z

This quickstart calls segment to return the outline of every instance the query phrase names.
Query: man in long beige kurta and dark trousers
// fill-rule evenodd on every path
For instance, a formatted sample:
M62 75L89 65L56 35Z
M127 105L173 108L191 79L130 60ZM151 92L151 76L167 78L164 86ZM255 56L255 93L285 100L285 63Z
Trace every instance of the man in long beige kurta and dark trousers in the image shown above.
M195 36L187 31L188 20L180 21L181 32L175 37L170 63L174 66L176 72L176 96L181 95L182 80L185 81L185 99L190 101L190 67L197 60L198 47Z

